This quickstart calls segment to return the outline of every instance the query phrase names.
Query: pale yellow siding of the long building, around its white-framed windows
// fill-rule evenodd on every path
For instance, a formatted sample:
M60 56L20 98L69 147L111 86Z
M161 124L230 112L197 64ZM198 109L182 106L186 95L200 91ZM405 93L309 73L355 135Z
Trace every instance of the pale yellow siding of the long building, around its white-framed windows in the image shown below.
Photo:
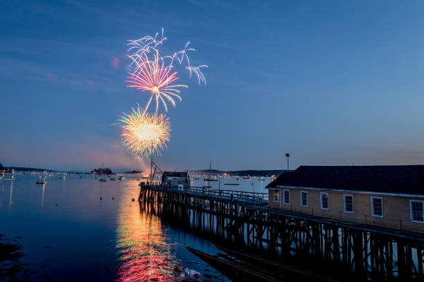
M424 233L424 223L411 221L411 211L409 200L422 200L419 198L409 198L400 196L382 196L381 194L358 194L344 193L339 191L319 191L308 189L288 189L290 190L290 205L281 202L281 209L323 216L337 220L346 220L354 223L367 225L378 225L394 229L404 229L412 232ZM308 207L301 206L301 191L308 191ZM283 201L283 188L280 192L280 200ZM328 209L321 209L320 193L328 193ZM344 195L353 196L353 213L344 212ZM383 205L383 216L372 216L371 197L381 197ZM280 204L274 203L274 190L269 190L270 204L272 208L279 209Z

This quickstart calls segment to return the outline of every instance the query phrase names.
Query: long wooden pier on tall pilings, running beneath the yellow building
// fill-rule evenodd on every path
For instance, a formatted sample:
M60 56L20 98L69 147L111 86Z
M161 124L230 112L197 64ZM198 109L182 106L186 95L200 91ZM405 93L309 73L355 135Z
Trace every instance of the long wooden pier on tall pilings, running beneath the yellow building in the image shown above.
M424 279L424 234L270 209L265 194L140 186L141 205L240 249L328 261L371 281Z

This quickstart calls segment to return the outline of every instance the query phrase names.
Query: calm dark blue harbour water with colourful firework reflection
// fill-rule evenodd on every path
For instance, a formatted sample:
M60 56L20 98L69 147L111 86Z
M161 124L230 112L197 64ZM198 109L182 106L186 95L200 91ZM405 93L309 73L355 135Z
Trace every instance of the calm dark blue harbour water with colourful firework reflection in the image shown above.
M1 238L21 245L24 254L11 274L18 280L227 281L184 248L215 254L211 242L146 215L132 202L139 195L136 176L99 182L55 174L36 185L38 177L0 181ZM265 191L258 178L240 182L245 185L221 182L221 189L252 189L254 182L255 191Z

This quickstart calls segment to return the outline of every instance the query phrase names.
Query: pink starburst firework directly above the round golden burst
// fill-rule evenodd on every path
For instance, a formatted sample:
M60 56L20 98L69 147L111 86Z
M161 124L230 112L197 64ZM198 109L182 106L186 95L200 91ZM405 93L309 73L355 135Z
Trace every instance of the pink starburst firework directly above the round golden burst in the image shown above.
M129 73L127 76L129 82L128 87L134 87L141 91L149 91L151 93L148 103L145 105L145 111L148 110L152 98L156 101L156 113L159 109L159 100L164 105L165 111L168 111L165 99L168 100L173 106L175 106L175 98L179 101L182 100L178 94L180 91L179 87L188 87L183 84L172 84L178 79L177 72L171 73L172 66L164 66L164 59L159 57L159 53L156 52L154 59L150 61L146 54L144 59L138 60L139 55L133 55L131 58L136 64L136 71ZM164 99L165 98L165 99Z

